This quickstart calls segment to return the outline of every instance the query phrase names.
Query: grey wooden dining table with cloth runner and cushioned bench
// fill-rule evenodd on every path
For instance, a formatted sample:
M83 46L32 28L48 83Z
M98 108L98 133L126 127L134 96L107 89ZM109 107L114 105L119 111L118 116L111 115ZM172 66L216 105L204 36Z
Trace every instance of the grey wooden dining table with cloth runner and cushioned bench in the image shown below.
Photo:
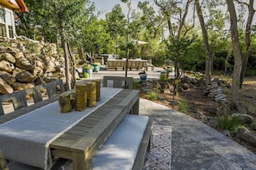
M53 84L51 87L56 88ZM4 159L10 161L7 167L22 165L48 169L53 166L53 158L57 157L71 160L73 170L81 167L94 169L108 165L110 160L111 166L122 168L128 165L128 169L142 169L150 143L152 120L139 115L139 99L139 90L102 87L97 106L83 112L60 113L59 94L22 106L14 112L3 112L0 117L0 150ZM124 144L126 137L133 143L127 139L127 144ZM115 154L114 159L108 143L122 146L123 150ZM123 157L127 152L133 156Z

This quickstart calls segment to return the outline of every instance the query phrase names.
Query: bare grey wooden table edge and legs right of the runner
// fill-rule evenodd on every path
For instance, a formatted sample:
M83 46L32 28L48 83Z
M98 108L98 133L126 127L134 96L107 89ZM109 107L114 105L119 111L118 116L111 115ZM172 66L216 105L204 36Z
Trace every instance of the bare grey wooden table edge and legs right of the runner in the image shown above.
M74 169L91 169L92 157L128 113L139 114L139 90L123 89L103 106L58 137L53 155L71 159ZM130 112L133 111L133 112ZM76 162L76 163L75 163ZM77 168L76 168L77 167Z

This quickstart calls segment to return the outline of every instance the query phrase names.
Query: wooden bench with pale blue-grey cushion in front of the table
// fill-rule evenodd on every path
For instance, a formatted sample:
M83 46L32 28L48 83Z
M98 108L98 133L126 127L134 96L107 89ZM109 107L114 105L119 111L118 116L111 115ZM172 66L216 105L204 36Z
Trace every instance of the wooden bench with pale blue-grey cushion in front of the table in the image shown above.
M148 117L126 115L93 157L93 170L142 169L150 136L151 122ZM142 148L143 151L140 150Z

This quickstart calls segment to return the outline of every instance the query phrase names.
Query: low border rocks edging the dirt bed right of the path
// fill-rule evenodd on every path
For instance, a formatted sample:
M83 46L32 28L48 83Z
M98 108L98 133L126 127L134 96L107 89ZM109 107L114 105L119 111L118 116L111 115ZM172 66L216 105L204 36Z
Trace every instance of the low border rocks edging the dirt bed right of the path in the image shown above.
M140 89L141 93L148 93L149 91L157 91L159 93L171 94L173 93L175 85L174 79L168 79L167 81L160 81L160 80L153 80L147 82L140 82L138 84L138 88ZM205 87L206 90L204 92L205 95L208 95L210 99L215 100L218 102L219 108L215 109L215 113L219 112L220 114L225 114L225 109L221 109L221 107L229 106L227 96L223 94L222 88L230 88L230 84L227 81L215 78L209 85L206 85L205 81L202 79L197 79L189 76L184 76L180 78L178 82L178 92L185 92L185 90L189 88L195 87ZM165 100L165 99L159 99ZM214 113L214 114L215 114ZM207 117L203 114L203 112L197 112L200 114L200 118L205 124L209 124L210 126L215 126L217 124L216 118L214 117ZM231 114L231 117L239 118L242 124L245 126L240 127L235 134L230 134L230 131L222 131L223 134L227 136L233 136L239 138L240 140L247 141L247 143L251 143L256 145L256 124L252 116L248 115L246 112L234 112Z

